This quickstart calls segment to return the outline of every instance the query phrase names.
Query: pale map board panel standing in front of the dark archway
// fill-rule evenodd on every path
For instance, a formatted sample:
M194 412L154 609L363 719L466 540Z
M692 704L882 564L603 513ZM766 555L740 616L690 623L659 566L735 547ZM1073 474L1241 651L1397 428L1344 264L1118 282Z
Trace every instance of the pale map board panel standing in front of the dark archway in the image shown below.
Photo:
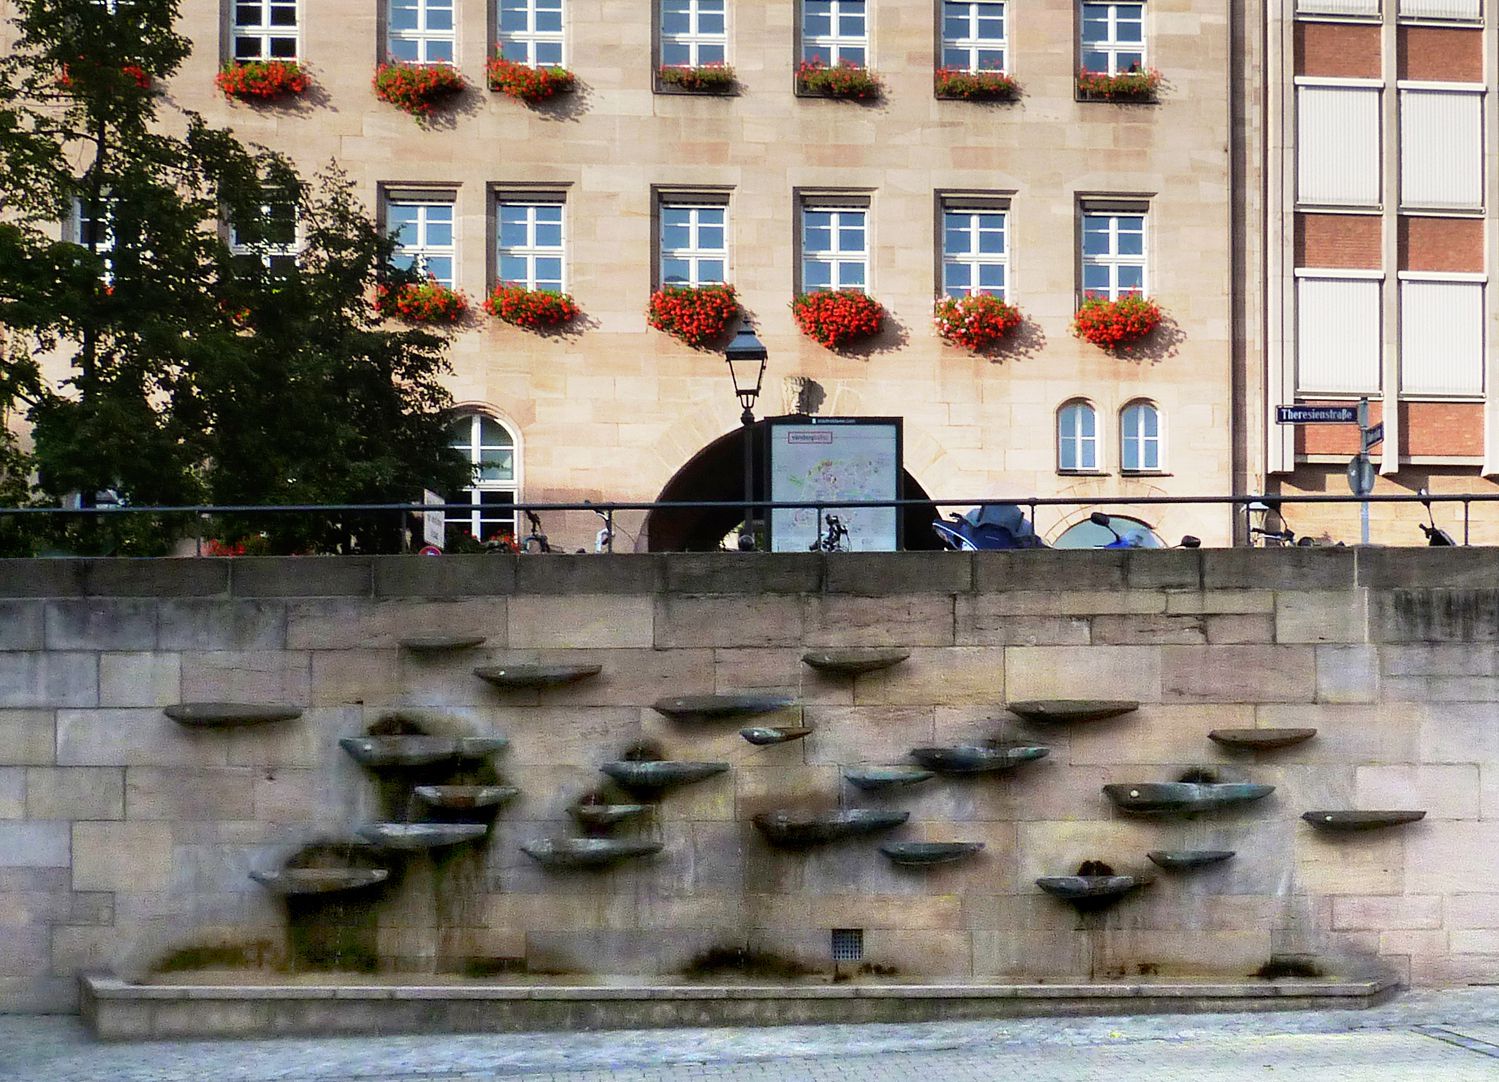
M901 423L886 418L770 421L770 499L826 501L848 529L847 551L893 551L899 544L896 508L841 508L838 501L898 499ZM815 508L770 513L770 550L808 551L817 544Z

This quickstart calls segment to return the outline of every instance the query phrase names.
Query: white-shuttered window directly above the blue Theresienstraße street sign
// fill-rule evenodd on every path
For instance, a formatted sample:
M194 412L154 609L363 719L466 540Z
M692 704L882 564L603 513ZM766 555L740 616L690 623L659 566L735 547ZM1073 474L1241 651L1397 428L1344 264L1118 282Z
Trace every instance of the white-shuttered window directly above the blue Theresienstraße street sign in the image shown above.
M1379 279L1297 276L1297 393L1379 391Z

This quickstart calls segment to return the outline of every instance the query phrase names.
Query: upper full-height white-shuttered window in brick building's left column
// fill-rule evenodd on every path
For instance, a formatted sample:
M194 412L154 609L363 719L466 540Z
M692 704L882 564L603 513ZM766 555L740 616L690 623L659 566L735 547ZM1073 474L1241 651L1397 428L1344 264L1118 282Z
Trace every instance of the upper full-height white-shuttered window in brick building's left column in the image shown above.
M1379 88L1297 87L1297 202L1379 205Z

